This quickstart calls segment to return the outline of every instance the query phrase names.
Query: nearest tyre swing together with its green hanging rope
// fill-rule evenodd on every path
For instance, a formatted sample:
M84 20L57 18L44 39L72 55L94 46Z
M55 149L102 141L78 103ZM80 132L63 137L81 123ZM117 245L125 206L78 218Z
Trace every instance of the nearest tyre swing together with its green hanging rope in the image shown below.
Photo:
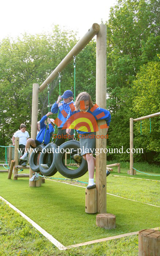
M75 101L75 56L74 57L74 101ZM83 176L88 171L88 164L83 157L81 157L81 161L77 162L77 166L68 167L67 162L73 158L74 153L77 154L77 149L80 148L80 142L75 140L75 130L74 130L74 140L64 142L60 147L57 154L55 154L55 165L56 169L62 174L64 177L75 179ZM68 149L68 151L67 151ZM71 150L72 149L72 150ZM66 159L67 154L67 159ZM68 157L69 156L69 157ZM69 159L70 158L70 159ZM67 160L67 161L66 161Z

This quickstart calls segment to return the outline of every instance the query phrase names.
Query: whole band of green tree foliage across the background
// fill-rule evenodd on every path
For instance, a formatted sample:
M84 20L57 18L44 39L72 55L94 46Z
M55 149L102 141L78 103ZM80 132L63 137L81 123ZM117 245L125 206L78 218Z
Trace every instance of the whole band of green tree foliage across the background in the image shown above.
M107 109L111 112L109 148L129 148L129 119L158 112L159 2L118 0L107 25ZM11 141L21 123L31 122L32 85L39 85L77 42L75 33L53 27L50 34L23 35L0 42L0 145ZM49 86L50 105L59 95L58 79ZM61 73L61 94L74 90L73 62ZM76 95L90 93L96 100L96 42L92 40L76 57ZM39 119L48 112L47 89L39 94ZM56 115L53 116L56 118ZM145 123L146 122L146 123ZM148 122L148 123L147 123ZM134 147L145 154L135 160L157 161L158 118L135 123ZM30 131L30 130L29 130ZM108 154L108 159L129 161L129 154Z

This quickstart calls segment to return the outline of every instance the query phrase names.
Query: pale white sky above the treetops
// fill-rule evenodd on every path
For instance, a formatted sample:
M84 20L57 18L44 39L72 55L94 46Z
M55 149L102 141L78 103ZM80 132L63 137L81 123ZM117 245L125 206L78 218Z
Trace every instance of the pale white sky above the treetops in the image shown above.
M93 23L109 17L116 0L5 0L0 4L0 40L51 31L52 24L78 31L81 38Z

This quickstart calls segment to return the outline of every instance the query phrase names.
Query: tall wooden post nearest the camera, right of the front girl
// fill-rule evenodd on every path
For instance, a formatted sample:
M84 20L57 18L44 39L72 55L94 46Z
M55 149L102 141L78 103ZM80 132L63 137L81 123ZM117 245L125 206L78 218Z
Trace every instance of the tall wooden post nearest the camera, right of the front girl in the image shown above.
M107 69L107 28L100 25L97 34L96 50L96 103L101 108L106 108L106 69ZM106 148L105 138L97 138L98 135L105 136L106 129L100 129L100 125L106 124L104 120L98 121L98 131L96 132L96 148ZM106 213L106 154L102 152L96 156L96 188L97 188L97 212Z

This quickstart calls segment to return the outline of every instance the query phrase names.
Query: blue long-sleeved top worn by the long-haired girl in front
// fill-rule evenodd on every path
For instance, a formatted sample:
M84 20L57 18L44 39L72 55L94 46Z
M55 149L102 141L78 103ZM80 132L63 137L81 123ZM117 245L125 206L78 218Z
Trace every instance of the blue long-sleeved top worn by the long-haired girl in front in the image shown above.
M74 117L71 119L70 117L74 115ZM69 120L68 120L69 119ZM68 122L70 121L71 122ZM90 111L90 107L88 109L87 112L83 113L80 110L78 111L71 111L69 112L68 116L67 116L67 122L68 123L73 123L73 125L75 126L75 124L77 125L77 127L81 127L81 130L77 130L78 133L80 134L84 134L84 133L90 133L92 131L96 131L96 126L97 126L97 122L96 120L106 120L107 126L109 126L109 123L111 121L111 114L109 113L108 110L103 109L103 108L96 108L93 112ZM72 122L73 120L77 120L77 122ZM66 123L67 123L66 122ZM72 127L72 129L74 129L74 127ZM89 130L90 131L86 131ZM83 131L85 130L85 131Z

